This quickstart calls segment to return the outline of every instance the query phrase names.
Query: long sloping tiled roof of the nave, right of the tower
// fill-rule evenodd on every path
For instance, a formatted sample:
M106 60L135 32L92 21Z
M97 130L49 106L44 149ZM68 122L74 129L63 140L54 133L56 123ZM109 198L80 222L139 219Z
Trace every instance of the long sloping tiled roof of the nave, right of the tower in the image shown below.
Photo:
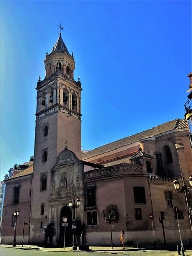
M188 124L184 121L184 119L174 119L143 132L97 147L94 150L83 153L82 160L98 156L100 154L115 150L116 148L123 147L158 134L179 129L188 129Z

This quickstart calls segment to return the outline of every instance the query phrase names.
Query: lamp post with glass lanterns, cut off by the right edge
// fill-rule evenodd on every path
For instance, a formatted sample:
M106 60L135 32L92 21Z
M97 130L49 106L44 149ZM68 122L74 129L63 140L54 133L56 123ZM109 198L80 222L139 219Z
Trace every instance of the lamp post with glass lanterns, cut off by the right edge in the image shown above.
M186 201L187 212L188 212L189 204L188 204L187 193L190 193L190 191L191 191L192 176L190 176L190 177L188 178L190 187L187 187L187 185L185 184L185 179L184 179L184 177L183 177L183 172L182 172L182 170L181 170L181 179L182 179L182 183L183 183L183 186L182 186L181 188L180 188L180 184L179 184L178 179L175 179L175 180L173 181L173 184L174 184L175 190L176 190L178 193L184 193L184 194L185 194L185 201ZM189 215L190 229L191 229L191 231L192 231L192 221L191 221L191 215L189 214L189 212L188 212L188 215Z

